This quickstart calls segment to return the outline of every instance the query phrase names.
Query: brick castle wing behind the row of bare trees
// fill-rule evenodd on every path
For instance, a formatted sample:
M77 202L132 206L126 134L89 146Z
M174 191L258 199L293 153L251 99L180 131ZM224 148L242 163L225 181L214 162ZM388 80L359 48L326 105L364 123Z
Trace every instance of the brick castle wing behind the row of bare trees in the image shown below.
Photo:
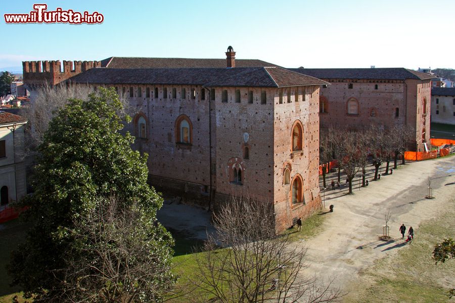
M320 93L321 127L368 128L372 124L413 129L413 149L430 140L431 80L405 68L291 69L330 82Z

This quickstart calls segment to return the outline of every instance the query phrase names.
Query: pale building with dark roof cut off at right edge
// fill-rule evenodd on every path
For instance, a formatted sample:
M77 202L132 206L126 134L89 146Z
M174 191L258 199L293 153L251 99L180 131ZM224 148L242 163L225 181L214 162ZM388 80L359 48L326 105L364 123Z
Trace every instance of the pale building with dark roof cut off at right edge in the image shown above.
M431 122L455 125L455 87L431 89Z

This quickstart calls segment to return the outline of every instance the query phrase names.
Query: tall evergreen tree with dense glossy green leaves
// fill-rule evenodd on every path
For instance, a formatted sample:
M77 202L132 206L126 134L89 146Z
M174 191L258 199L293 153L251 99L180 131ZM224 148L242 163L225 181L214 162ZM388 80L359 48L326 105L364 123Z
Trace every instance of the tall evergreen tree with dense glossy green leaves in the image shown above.
M115 196L121 201L119 210L139 209L140 223L145 224L142 230L153 240L147 242L150 254L155 265L164 269L149 277L155 279L153 296L142 292L134 300L159 301L160 289L168 288L174 280L169 270L172 238L156 222L162 198L147 184L147 155L130 148L131 135L119 133L122 121L130 121L118 114L121 107L113 89L100 88L85 102L71 99L50 122L39 145L34 193L22 201L29 206L24 216L32 228L25 243L13 252L9 266L13 283L21 285L25 295L33 295L35 301L58 297L66 269L74 268L68 263L93 257L93 250L87 249L93 238L81 236L83 228L75 222L87 221L84 218L100 208L100 197ZM117 242L105 240L115 250ZM119 266L128 264L119 260ZM132 285L142 284L135 281Z

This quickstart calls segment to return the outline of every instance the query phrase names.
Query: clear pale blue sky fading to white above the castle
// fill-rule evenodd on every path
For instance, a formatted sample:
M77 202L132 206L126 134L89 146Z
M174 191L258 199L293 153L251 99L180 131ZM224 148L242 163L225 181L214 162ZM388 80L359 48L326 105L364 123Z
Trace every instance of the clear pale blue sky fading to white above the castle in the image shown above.
M5 13L97 11L97 25L6 24ZM284 67L455 68L455 1L7 1L0 68L24 60L260 59Z

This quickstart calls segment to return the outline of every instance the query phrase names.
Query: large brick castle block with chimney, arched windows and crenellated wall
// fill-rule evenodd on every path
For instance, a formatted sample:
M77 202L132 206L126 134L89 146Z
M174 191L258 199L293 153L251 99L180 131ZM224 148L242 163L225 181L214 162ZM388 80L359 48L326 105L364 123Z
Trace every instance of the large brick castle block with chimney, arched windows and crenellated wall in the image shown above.
M114 87L138 110L126 130L151 183L216 209L229 195L275 206L277 230L321 207L319 92L329 83L260 60L117 58L23 62L40 85Z

